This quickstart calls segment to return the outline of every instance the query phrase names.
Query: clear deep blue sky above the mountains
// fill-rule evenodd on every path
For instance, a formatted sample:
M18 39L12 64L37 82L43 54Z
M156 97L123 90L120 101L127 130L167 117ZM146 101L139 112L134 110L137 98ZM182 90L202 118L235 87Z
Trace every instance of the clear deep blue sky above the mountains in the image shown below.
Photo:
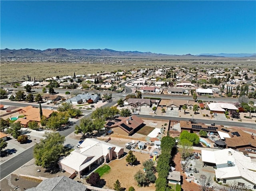
M1 49L255 53L256 1L0 1Z

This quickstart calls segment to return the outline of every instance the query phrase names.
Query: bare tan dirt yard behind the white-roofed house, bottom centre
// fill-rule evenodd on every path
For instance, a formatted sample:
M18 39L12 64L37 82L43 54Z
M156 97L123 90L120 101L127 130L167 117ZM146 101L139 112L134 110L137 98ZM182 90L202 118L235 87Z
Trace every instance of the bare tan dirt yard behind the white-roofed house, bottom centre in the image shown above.
M102 177L106 181L106 187L113 188L115 181L118 179L121 186L125 187L126 190L128 190L130 186L133 186L136 191L154 191L156 189L155 185L152 183L146 187L138 187L134 180L134 175L139 170L143 171L142 163L149 159L149 155L141 154L139 152L133 152L133 154L136 156L138 161L140 161L140 163L134 167L130 165L126 166L126 157L116 159L108 164L111 167L111 171Z

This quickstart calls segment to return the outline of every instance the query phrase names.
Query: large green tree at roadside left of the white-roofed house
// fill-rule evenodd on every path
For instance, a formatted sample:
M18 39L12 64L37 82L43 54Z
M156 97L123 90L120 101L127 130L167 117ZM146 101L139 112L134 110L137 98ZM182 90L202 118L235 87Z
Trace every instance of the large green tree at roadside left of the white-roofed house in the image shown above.
M34 158L36 165L48 168L60 158L60 154L64 150L65 136L58 132L46 132L44 138L35 145Z

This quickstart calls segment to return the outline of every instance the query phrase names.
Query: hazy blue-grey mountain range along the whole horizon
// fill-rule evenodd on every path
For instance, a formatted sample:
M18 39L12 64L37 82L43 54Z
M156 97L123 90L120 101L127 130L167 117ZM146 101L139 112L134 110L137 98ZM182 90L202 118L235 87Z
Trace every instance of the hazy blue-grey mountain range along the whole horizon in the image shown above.
M79 57L79 56L127 56L127 57L256 57L256 53L242 53L242 54L200 54L200 55L167 55L152 52L139 51L115 51L112 49L64 49L53 48L46 50L35 49L1 49L0 55L4 57Z

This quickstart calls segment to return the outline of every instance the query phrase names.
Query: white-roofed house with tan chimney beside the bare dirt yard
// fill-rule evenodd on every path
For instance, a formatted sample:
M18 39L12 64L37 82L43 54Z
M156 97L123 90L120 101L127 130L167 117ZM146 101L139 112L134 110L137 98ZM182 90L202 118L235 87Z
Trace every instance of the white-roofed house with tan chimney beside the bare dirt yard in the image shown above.
M87 138L80 145L80 150L76 149L59 160L59 167L70 174L76 173L81 177L91 170L94 164L100 165L112 159L121 158L124 148L109 144L104 141Z

